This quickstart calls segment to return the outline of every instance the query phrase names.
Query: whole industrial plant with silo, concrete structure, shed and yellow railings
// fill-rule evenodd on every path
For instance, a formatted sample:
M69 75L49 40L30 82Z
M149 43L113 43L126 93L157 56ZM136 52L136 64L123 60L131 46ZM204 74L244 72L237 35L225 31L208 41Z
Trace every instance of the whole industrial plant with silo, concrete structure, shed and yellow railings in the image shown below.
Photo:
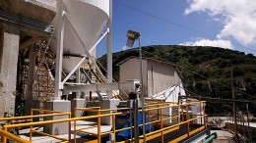
M143 33L119 35L137 56L113 65L113 5L0 0L2 143L253 142L249 112L240 120L235 108L221 118L206 112L209 100L247 111L251 101L193 96L180 66L142 55ZM102 43L105 64L96 53Z

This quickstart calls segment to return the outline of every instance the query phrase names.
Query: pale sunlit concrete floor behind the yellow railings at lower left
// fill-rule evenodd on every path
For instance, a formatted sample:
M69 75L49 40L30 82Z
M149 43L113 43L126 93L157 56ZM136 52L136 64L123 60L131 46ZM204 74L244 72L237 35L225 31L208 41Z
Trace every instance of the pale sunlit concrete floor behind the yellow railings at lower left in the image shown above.
M77 129L82 128L82 127L87 127L90 125L96 125L96 122L94 121L84 121L84 120L78 120L77 121ZM101 132L106 132L111 130L112 126L111 125L101 125L100 126L100 131ZM38 131L42 131L42 127L33 127L33 129L36 129ZM74 122L72 122L72 134L71 134L71 142L74 142ZM87 132L92 132L92 133L97 133L97 127L94 128L90 128L90 129L84 129L84 131ZM26 139L26 140L30 140L30 128L28 129L21 129L20 130L20 137ZM58 137L61 138L65 138L68 139L68 134L62 134L62 135L58 135ZM90 134L85 134L85 133L77 133L77 142L81 143L81 142L85 142L85 141L89 141L90 139L92 139L92 136ZM48 136L42 136L39 135L37 133L33 133L32 134L32 142L33 143L57 143L60 142L60 140L55 139L55 138L51 138Z

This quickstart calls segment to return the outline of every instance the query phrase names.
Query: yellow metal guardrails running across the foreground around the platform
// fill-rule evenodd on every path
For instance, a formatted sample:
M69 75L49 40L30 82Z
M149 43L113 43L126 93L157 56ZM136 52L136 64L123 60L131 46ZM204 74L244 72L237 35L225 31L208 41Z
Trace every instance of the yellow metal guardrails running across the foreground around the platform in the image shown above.
M189 106L193 105L193 104L199 104L200 107L203 107L202 108L202 114L193 115L193 114L189 114L189 112L185 112L185 111L188 111ZM189 102L189 103L187 102L187 103L179 104L179 105L169 105L169 103L168 103L168 106L166 106L165 103L163 103L163 104L157 103L157 106L159 106L159 107L154 107L154 108L151 108L151 106L146 107L145 112L148 113L149 121L147 123L145 123L145 125L155 125L155 126L158 125L160 127L160 129L155 130L155 131L149 130L149 132L146 134L146 141L151 140L151 139L156 138L156 137L161 137L162 142L163 142L163 135L164 134L169 133L170 131L173 131L175 129L178 129L179 125L182 125L182 124L186 124L187 133L184 134L183 136L181 136L180 138L177 138L176 141L179 141L179 139L182 140L184 137L189 137L192 134L206 128L207 127L206 126L207 125L207 123L206 123L206 117L207 116L205 115L205 109L204 109L205 106L204 106L204 104L205 104L205 101ZM152 105L156 106L156 103L154 103ZM174 115L174 116L164 115L163 110L169 109L169 108L177 109L177 110L179 110L179 112L177 112L177 115ZM90 117L80 117L80 118L75 117L75 118L72 118L72 119L70 119L70 117L71 117L70 113L32 110L32 112L35 112L35 111L45 112L45 113L47 112L47 113L51 113L51 114L28 116L28 117L18 117L17 119L33 119L35 117L38 118L38 117L48 117L48 116L60 116L60 114L69 115L69 119L43 120L43 121L37 121L37 122L28 122L28 123L4 125L2 130L0 131L0 135L2 136L2 142L6 143L7 138L10 138L10 139L12 139L14 141L17 141L17 142L18 142L19 139L21 140L21 142L32 142L32 138L30 138L30 140L28 141L28 140L21 139L17 136L14 136L14 135L10 135L10 133L8 133L8 129L17 128L17 127L31 127L31 133L35 132L35 133L39 133L39 134L42 134L42 135L46 135L46 136L49 136L49 137L59 139L63 142L70 142L71 141L71 121L74 121L74 141L75 141L75 143L77 142L77 140L76 140L77 132L81 132L81 133L84 132L84 133L90 133L90 134L96 135L96 137L97 137L96 142L97 143L101 142L100 141L101 136L112 133L113 136L114 136L113 142L116 142L116 140L115 140L115 138L116 138L115 133L116 132L120 132L120 131L123 131L123 130L134 128L134 126L120 128L120 129L115 128L115 118L116 118L116 116L123 115L124 113L132 114L133 111L129 108L119 108L119 109L100 109L99 107L77 108L77 109L75 109L75 116L77 115L78 111L96 112L97 115L96 116L90 116ZM108 114L108 113L107 114L101 114L102 112L116 112L116 111L118 111L118 112L117 113L110 113L110 114ZM124 111L124 112L122 112L122 111ZM142 112L142 111L139 110L139 112ZM183 115L186 115L186 118L184 118ZM153 116L157 117L158 119L151 120L150 117L153 117ZM195 118L193 118L194 116L195 116ZM100 130L101 129L100 119L105 118L105 117L111 117L112 118L112 127L111 127L112 129L110 131L101 132L101 130ZM167 118L164 118L164 117L167 117ZM192 118L190 119L190 117L192 117ZM7 119L11 119L11 118L7 118ZM84 128L77 128L77 126L78 126L77 120L87 120L87 119L96 119L96 125L90 125L90 126L87 126L87 127L84 127ZM176 120L176 123L175 124L170 124L170 125L169 124L164 124L164 121L168 120L168 119L172 119L173 121ZM196 119L201 119L201 122L199 123L199 124L201 124L201 127L196 129L196 130L191 130L190 129L190 123L194 122ZM203 119L204 119L204 121L203 121ZM35 125L44 125L44 124L59 123L59 122L69 122L69 138L68 139L63 139L63 138L57 137L55 135L50 135L50 134L47 134L47 133L44 133L44 132L39 132L37 130L32 129L32 126L35 126ZM142 125L143 124L139 124L139 126L142 126ZM96 129L97 129L96 133L92 133L90 131L85 130L85 129L89 129L89 128L92 128L92 127L96 127ZM143 136L141 135L140 137L143 137ZM132 136L131 136L131 138L126 140L126 141L134 141L134 138L132 138ZM126 142L126 141L123 141L123 142ZM142 141L143 140L140 139L140 142L142 142Z

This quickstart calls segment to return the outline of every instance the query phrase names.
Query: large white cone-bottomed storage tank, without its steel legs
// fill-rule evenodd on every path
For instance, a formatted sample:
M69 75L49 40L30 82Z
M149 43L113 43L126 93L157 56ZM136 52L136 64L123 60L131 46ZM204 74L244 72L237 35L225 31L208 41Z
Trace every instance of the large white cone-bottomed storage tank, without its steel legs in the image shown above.
M64 18L64 54L86 55L85 48L90 51L100 36L109 16L109 0L64 0L64 9L86 47L83 47L71 24ZM60 13L60 12L57 12ZM53 52L57 48L57 14L52 24L56 31L50 47ZM96 50L91 52L96 56ZM79 63L79 57L64 57L63 69L72 71Z

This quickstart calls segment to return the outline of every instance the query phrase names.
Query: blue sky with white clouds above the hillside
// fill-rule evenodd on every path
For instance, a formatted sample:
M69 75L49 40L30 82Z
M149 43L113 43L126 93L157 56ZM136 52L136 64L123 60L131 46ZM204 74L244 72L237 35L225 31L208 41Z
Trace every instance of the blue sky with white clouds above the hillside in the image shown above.
M126 48L126 31L133 29L141 32L143 46L209 45L255 54L255 17L256 3L251 0L243 0L242 3L240 0L226 0L226 3L222 0L113 0L113 52ZM248 28L247 23L240 24L246 20ZM248 29L252 31L248 33ZM98 57L105 52L106 48L97 48Z

